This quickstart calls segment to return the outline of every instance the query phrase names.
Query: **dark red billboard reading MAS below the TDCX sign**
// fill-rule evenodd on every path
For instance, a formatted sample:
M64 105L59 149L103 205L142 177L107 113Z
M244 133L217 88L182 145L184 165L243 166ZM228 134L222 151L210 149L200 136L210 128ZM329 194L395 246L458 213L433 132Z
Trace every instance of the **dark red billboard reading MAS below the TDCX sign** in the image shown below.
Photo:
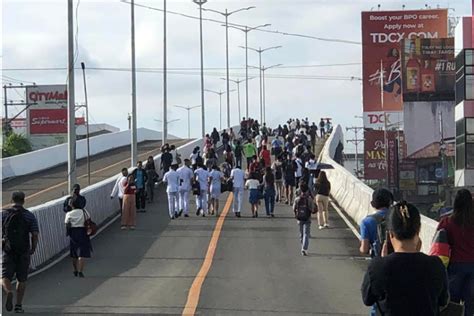
M364 131L364 178L383 180L388 177L389 186L395 186L398 178L397 132L387 132L387 141L388 159L386 160L384 131Z

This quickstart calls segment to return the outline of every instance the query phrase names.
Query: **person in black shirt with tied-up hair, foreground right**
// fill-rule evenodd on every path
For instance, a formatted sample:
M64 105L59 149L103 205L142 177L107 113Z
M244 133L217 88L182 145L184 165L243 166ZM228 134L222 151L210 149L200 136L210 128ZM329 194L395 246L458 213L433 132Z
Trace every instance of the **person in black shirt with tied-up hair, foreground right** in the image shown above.
M448 304L446 269L420 252L420 227L419 211L406 202L388 215L383 257L371 261L362 284L364 304L376 304L379 315L436 316Z

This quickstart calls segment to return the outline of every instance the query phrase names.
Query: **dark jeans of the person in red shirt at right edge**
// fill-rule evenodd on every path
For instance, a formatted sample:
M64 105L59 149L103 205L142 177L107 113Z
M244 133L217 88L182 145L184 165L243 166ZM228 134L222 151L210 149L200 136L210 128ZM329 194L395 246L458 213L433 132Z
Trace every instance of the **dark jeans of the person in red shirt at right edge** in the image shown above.
M474 313L472 288L474 286L474 263L453 262L448 266L449 292L454 302L464 301L466 316Z

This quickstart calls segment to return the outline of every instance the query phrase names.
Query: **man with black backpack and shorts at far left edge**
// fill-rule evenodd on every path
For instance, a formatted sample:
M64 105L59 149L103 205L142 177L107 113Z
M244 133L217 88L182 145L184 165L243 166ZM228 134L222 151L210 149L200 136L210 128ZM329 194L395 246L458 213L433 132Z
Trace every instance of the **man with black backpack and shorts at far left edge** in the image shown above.
M26 290L30 257L38 245L38 221L23 208L25 193L13 192L12 207L2 211L2 285L6 293L5 309L13 310L12 280L16 276L15 313L24 313L22 302Z

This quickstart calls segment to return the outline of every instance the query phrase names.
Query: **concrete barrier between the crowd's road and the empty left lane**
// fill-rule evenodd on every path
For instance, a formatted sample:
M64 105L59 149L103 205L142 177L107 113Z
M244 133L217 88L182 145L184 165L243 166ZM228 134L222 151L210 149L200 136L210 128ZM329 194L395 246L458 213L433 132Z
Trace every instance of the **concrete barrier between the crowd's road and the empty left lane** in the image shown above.
M234 127L234 130L237 128ZM238 129L236 130L236 133ZM203 139L191 141L177 148L182 158L188 158L194 147L202 148ZM155 165L161 163L161 154L154 157ZM132 170L132 169L131 169ZM99 226L112 221L119 213L117 199L111 199L110 193L119 173L109 179L93 184L81 190L87 199L86 209L91 213L92 220ZM161 174L162 177L162 174ZM69 247L64 225L63 202L65 197L30 208L39 224L39 243L36 253L31 258L32 270L38 270L61 257Z

